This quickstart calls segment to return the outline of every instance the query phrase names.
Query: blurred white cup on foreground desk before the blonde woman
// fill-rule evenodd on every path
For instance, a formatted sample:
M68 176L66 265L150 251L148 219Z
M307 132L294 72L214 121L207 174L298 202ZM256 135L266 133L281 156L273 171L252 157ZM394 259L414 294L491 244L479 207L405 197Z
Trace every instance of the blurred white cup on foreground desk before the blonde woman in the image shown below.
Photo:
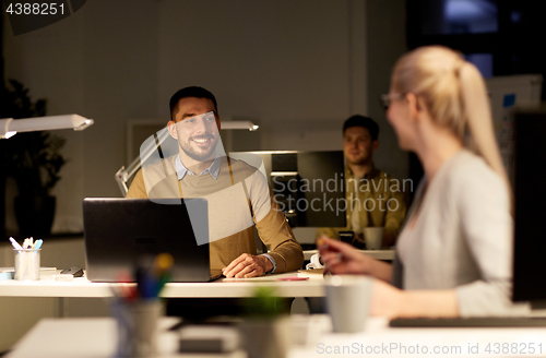
M334 332L354 333L366 327L372 279L366 276L334 275L324 285L327 307Z

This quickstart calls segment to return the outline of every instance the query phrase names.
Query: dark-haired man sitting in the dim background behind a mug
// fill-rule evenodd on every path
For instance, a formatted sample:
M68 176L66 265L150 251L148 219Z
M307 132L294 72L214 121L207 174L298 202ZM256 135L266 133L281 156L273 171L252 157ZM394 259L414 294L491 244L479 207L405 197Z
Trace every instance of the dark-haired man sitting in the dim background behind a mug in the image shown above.
M339 238L339 231L353 231L353 243L364 247L364 228L383 227L383 247L394 244L406 214L402 186L373 165L379 147L379 126L364 116L353 116L343 124L345 199L347 227L320 228L322 235ZM396 186L399 183L399 186Z

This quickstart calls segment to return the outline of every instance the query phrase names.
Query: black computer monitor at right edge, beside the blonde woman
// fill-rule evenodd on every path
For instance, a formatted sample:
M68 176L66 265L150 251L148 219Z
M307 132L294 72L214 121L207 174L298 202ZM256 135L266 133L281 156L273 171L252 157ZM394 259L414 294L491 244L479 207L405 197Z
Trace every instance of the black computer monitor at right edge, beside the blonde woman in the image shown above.
M546 303L546 109L514 117L513 300Z

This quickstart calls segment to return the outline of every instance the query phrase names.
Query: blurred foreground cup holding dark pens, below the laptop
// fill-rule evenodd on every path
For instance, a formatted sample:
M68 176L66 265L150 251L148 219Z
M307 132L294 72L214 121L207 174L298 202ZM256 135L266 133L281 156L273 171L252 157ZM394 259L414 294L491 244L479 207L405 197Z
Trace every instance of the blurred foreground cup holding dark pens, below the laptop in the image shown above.
M158 299L138 299L131 302L116 299L112 315L118 326L116 357L155 357L157 324L163 315Z

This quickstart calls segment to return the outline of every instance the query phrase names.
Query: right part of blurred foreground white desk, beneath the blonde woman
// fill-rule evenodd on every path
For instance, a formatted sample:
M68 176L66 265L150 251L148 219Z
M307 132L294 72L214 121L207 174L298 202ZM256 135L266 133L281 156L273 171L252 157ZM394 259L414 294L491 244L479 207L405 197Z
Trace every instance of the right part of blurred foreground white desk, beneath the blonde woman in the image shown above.
M534 348L533 354L531 347ZM324 334L319 337L317 344L293 349L288 357L545 356L546 329L543 327L391 329L387 319L372 318L363 333Z

